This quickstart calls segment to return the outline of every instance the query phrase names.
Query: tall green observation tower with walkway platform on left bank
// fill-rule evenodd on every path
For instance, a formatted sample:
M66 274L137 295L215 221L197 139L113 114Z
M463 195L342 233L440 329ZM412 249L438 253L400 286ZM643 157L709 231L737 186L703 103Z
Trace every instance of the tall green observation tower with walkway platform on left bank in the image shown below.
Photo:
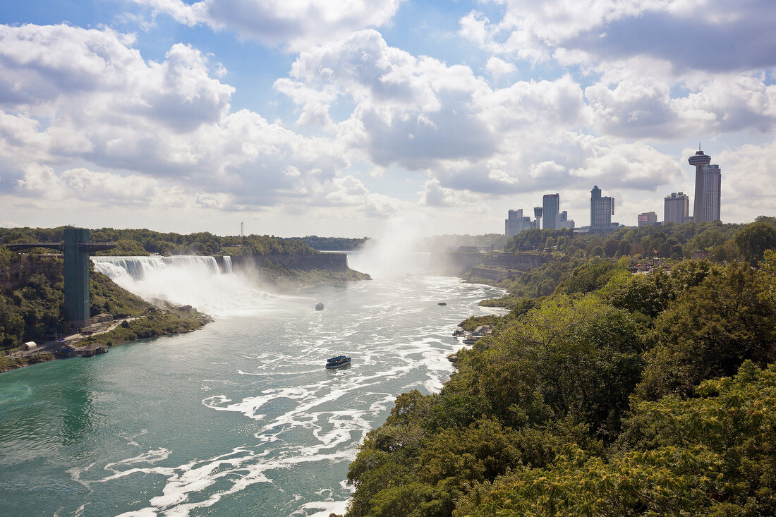
M115 242L92 242L86 228L64 228L64 242L23 242L7 244L19 252L29 248L49 248L64 254L64 312L74 327L87 324L89 317L89 255L116 248Z

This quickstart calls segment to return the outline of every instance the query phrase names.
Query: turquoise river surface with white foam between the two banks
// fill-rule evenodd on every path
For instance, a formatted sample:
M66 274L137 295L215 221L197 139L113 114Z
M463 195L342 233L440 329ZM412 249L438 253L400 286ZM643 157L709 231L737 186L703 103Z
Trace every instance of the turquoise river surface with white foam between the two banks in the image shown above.
M442 386L456 324L500 293L434 276L334 283L3 373L0 514L344 512L365 433L397 394ZM352 366L325 370L339 353Z

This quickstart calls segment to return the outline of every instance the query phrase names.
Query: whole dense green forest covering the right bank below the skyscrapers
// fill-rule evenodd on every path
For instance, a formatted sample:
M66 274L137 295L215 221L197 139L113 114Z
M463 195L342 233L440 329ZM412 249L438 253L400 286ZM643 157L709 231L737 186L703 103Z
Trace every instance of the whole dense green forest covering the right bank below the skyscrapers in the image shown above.
M685 226L546 235L563 259L366 436L347 515L776 515L774 220Z

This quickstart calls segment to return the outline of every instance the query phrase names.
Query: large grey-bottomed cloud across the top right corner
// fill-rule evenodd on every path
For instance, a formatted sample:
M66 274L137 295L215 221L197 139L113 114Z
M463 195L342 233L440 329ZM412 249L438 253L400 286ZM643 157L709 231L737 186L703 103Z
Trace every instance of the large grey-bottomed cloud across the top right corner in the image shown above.
M460 21L460 33L490 51L544 61L556 49L602 59L648 56L681 69L751 70L776 64L769 0L490 0L500 20L481 12Z

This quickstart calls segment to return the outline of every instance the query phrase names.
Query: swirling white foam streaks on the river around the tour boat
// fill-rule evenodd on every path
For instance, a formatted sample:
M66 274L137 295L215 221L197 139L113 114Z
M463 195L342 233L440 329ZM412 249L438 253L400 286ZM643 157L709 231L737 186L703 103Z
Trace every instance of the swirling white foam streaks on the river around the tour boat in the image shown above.
M169 460L170 451L150 449L108 463L103 468L109 474L98 475L96 480L83 479L86 474L92 474L93 464L74 470L71 474L74 481L90 487L95 482L106 483L130 475L162 477L161 494L157 492L151 496L145 508L121 515L177 516L208 508L221 498L252 485L274 485L272 473L278 470L354 460L359 443L371 429L382 423L378 419L384 418L400 391L414 387L426 392L438 390L453 370L446 356L461 348L458 340L449 337L462 319L461 314L435 312L433 323L424 321L424 317L417 318L416 314L428 311L429 304L436 310L434 301L445 294L466 290L475 299L480 294L485 297L485 290L490 289L462 284L458 279L416 278L412 283L416 290L417 283L421 283L424 293L420 297L416 293L409 304L404 297L411 293L411 285L400 285L393 291L393 297L362 307L359 314L350 320L346 318L348 322L336 331L326 326L323 317L289 322L283 336L289 342L289 352L257 350L242 354L240 367L234 371L248 380L248 387L257 386L254 394L248 391L250 395L244 396L246 385L233 381L202 380L203 389L215 393L202 399L203 406L213 411L243 415L251 425L258 425L258 430L251 429L254 444L175 467L164 464ZM356 284L352 289L364 287ZM425 308L419 309L419 306ZM469 311L472 308L470 306ZM404 328L397 328L392 322L400 317L408 322ZM353 338L355 335L366 335L369 339L361 338L359 342ZM352 354L352 367L321 376L321 358L327 352L340 349ZM302 370L293 370L300 366ZM296 380L289 380L287 375L296 376ZM276 385L280 386L262 389L262 386L272 385L272 376L276 376ZM313 380L305 382L308 376ZM398 386L399 392L387 391L386 383L391 380L398 380L390 386L391 389ZM293 385L286 385L288 382ZM134 436L130 439L134 442ZM322 501L302 501L294 495L293 504L300 505L289 517L328 517L332 512L344 513L348 501L335 499L341 499L343 494L352 491L352 487L344 480L339 481L337 487L332 484L318 490L314 498ZM283 491L281 486L276 489ZM297 489L289 491L296 494Z

